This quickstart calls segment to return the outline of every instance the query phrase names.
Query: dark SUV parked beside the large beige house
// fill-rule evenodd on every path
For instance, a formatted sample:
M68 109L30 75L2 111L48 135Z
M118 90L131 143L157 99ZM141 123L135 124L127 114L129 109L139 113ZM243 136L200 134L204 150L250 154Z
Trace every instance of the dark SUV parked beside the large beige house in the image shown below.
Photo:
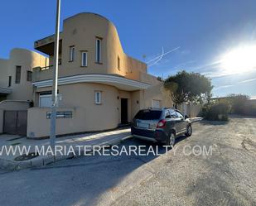
M192 134L191 121L174 108L142 109L133 118L132 135L174 146L176 137Z

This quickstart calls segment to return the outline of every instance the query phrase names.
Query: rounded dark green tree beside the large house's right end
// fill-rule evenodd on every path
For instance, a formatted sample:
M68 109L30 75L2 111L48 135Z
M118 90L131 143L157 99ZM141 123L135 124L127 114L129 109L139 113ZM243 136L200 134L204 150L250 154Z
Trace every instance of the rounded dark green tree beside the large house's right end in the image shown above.
M210 79L205 75L188 73L185 70L169 76L164 81L164 86L171 92L171 98L176 104L207 103L210 101L211 89L213 89Z

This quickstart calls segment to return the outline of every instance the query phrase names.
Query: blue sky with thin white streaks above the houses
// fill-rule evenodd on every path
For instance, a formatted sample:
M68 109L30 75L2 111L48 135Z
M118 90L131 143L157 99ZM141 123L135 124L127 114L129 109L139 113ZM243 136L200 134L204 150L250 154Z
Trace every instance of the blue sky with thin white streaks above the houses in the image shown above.
M0 58L8 58L14 47L33 50L34 41L54 33L56 1L0 3ZM166 78L181 69L200 72L212 79L215 96L256 97L256 65L248 69L239 60L240 54L246 62L248 56L247 50L239 48L256 46L254 0L62 0L61 11L61 20L78 12L109 18L118 29L123 50L149 62L150 74ZM239 52L231 55L230 68L230 58L223 64L223 57L234 50Z

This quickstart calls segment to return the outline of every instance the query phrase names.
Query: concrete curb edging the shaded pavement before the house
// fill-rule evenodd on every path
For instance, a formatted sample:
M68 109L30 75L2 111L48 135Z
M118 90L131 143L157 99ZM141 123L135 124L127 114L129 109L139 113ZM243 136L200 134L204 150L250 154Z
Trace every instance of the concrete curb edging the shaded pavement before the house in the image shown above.
M109 141L108 143L104 143L104 144L99 144L99 147L100 147L100 149L102 149L103 146L113 146L113 145L120 143L121 141L124 141L125 139L130 138L130 137L132 137L132 136L123 137L121 139ZM80 151L82 152L83 150L80 150ZM76 154L78 154L78 152L79 152L79 150L75 150ZM88 153L89 152L93 152L93 150L88 151ZM0 168L3 170L8 170L8 171L25 170L25 169L32 168L32 167L49 165L49 164L59 161L59 160L66 160L66 159L70 159L70 158L74 158L74 157L80 157L80 156L74 156L73 154L70 156L60 156L60 154L59 154L56 157L54 157L54 156L39 156L34 159L25 160L25 161L6 160L6 159L0 158Z

